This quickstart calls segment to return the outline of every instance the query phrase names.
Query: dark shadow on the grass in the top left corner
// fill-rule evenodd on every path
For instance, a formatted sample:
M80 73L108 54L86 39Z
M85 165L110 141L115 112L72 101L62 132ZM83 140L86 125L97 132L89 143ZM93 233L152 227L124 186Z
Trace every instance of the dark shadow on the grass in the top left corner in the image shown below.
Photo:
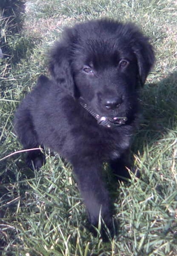
M0 45L4 58L11 58L16 64L26 57L26 52L33 49L34 39L23 36L23 15L26 0L1 0L0 28L5 31L0 37Z

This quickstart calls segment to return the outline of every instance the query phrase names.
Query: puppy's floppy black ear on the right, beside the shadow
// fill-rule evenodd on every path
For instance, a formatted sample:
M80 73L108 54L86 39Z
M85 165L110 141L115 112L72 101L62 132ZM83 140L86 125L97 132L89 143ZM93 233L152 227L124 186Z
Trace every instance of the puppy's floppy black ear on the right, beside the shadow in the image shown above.
M137 58L140 84L143 86L146 77L154 64L155 56L153 47L148 42L148 38L141 36L138 39L139 40L135 43L133 50Z

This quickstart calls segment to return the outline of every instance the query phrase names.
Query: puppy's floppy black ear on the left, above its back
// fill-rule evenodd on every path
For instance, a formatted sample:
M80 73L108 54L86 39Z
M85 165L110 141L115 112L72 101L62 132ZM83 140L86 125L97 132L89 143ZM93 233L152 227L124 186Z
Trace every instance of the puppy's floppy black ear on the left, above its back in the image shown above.
M67 44L67 43L66 43ZM69 46L64 42L57 42L51 49L49 57L49 71L60 87L74 96L74 80L69 60Z

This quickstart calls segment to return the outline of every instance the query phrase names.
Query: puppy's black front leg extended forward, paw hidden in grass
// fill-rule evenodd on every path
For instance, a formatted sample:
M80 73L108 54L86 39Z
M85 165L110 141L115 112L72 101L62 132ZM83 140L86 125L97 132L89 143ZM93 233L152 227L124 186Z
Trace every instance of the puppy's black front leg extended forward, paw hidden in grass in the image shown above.
M106 241L109 236L114 236L114 224L112 219L112 206L109 200L108 191L102 180L102 166L97 161L90 159L75 163L74 172L77 176L78 186L83 197L88 218L92 225L90 228L93 233L97 233L93 228L101 220L101 236ZM108 230L106 230L106 227Z

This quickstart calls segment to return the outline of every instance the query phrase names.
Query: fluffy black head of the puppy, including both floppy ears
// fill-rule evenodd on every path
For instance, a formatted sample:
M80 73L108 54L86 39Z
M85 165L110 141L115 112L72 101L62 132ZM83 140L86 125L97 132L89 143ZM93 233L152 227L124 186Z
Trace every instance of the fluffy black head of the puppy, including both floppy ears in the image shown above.
M66 29L51 53L50 70L98 123L111 127L133 118L137 88L153 63L148 38L136 26L93 20Z

